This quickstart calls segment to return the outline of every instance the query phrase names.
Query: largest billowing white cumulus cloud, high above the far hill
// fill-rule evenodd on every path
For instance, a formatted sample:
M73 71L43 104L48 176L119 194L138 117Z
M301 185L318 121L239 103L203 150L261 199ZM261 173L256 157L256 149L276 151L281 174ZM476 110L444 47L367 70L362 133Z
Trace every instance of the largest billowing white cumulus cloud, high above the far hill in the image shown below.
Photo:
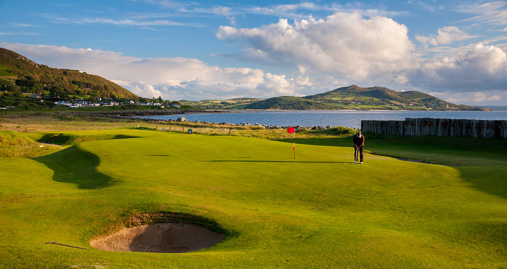
M359 13L338 12L326 19L308 19L258 28L221 26L219 39L240 42L246 49L229 57L325 71L362 80L414 66L417 58L408 29L390 18L365 19Z

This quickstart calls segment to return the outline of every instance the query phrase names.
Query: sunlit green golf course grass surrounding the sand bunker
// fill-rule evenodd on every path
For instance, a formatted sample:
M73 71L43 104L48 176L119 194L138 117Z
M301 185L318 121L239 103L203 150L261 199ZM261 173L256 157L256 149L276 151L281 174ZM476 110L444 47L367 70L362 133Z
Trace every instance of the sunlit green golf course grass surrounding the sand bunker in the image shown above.
M346 135L297 133L294 159L284 130L28 118L0 122L25 131L0 141L70 144L0 158L0 268L507 267L503 140L367 134L373 153L447 165L369 153L358 165ZM184 254L90 247L144 212L226 239Z

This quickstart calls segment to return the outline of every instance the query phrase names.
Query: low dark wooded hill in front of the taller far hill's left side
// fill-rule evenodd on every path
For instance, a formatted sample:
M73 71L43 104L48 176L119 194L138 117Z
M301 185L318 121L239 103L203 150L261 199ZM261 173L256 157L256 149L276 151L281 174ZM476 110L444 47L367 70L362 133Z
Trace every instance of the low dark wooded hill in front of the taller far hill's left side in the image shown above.
M296 110L317 110L317 109L340 109L336 105L324 104L314 100L307 100L295 96L273 97L266 100L254 102L245 106L247 109L296 109Z

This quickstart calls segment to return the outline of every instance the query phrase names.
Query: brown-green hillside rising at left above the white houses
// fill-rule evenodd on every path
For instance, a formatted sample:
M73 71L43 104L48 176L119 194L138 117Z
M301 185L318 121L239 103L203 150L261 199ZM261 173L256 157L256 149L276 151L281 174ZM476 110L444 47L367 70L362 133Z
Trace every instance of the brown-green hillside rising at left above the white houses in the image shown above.
M13 51L0 48L0 84L15 83L23 92L53 95L81 95L102 98L126 98L138 100L139 97L127 89L79 70L51 68L35 63ZM56 96L55 96L56 97Z

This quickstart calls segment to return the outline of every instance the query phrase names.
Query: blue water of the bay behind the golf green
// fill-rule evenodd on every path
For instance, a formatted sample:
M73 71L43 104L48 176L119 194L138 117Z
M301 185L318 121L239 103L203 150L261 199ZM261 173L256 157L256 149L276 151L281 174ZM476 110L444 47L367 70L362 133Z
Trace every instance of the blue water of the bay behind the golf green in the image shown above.
M405 118L507 120L507 111L357 111L357 110L283 110L283 111L229 111L189 113L145 118L212 123L249 123L277 126L344 126L360 128L362 120L403 121Z

